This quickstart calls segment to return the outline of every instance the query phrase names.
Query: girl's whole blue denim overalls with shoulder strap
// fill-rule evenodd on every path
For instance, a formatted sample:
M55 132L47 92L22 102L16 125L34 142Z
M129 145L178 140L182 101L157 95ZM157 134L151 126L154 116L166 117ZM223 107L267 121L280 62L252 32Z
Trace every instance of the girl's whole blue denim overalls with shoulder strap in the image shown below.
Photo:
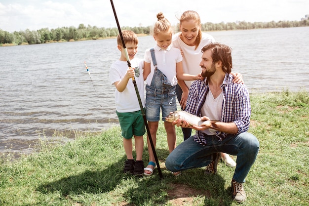
M173 86L167 77L157 69L154 48L151 48L150 51L155 69L151 85L146 85L146 118L147 121L158 122L161 108L162 120L165 121L164 117L177 110L176 85Z

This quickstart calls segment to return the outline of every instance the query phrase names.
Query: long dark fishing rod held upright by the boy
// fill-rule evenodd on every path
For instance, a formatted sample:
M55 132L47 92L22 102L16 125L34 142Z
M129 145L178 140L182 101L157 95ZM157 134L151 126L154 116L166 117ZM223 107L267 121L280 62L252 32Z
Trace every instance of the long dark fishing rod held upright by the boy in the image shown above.
M116 19L116 23L117 23L119 35L120 35L120 38L121 38L121 42L122 42L122 45L123 45L125 57L126 57L126 60L127 60L127 63L128 63L128 67L131 68L131 63L130 63L130 58L129 58L128 50L125 47L125 43L124 43L123 36L122 36L122 33L121 33L121 28L120 28L120 25L119 25L119 22L118 22L118 18L117 18L117 14L116 14L116 10L115 10L115 6L114 6L114 3L113 3L113 0L111 0L111 4L112 4L113 11L114 11L114 16L115 16L115 19ZM149 142L150 142L151 147L153 149L154 159L155 159L156 166L157 166L157 169L158 169L158 172L159 172L159 176L160 176L161 179L163 179L162 172L161 172L160 165L159 165L159 161L158 161L158 158L156 156L155 149L154 149L154 142L153 142L153 139L151 137L149 126L148 126L148 123L147 123L147 120L146 120L145 110L144 110L144 107L143 107L143 104L142 104L142 101L141 101L141 96L140 96L140 93L138 91L138 88L137 88L136 81L135 81L134 77L132 77L132 82L134 84L134 88L135 88L135 91L136 91L137 99L138 99L138 102L140 104L141 112L142 112L143 119L144 119L144 124L146 126L146 130L147 130L147 134L148 134L148 138L149 138Z

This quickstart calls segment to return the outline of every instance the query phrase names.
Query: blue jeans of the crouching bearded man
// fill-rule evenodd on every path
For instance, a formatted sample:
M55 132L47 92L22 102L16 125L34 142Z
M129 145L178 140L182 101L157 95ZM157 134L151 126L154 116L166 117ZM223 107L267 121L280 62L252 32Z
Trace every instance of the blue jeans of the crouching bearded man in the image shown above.
M239 183L245 182L260 149L258 139L248 132L229 135L222 141L216 136L206 135L205 138L205 146L195 142L193 136L178 145L166 158L166 168L176 172L207 166L212 162L213 153L224 152L237 156L233 179Z

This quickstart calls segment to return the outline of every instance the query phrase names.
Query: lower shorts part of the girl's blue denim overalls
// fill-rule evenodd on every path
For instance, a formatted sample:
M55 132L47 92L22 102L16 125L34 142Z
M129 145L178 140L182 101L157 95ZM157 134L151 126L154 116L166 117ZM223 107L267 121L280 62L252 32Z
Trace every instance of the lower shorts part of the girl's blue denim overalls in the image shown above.
M177 110L175 86L167 89L156 89L146 85L146 119L149 122L160 120L160 109L162 110L162 121L169 113Z

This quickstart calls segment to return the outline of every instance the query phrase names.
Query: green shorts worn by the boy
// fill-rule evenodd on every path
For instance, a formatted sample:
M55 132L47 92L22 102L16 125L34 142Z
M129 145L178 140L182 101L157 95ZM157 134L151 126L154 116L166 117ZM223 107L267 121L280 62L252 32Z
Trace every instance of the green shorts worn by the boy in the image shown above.
M133 135L143 136L146 133L142 111L117 112L121 134L125 139L131 139Z

